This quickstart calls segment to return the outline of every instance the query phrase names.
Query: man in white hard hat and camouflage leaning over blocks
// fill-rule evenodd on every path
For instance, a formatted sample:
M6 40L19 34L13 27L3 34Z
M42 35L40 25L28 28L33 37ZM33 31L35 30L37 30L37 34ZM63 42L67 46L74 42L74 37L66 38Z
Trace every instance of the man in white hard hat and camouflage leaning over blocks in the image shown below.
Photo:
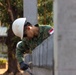
M33 50L41 44L53 29L50 26L32 25L26 21L26 18L18 18L12 24L14 34L21 38L21 42L17 44L16 56L22 70L27 70L29 65L22 60L23 54Z

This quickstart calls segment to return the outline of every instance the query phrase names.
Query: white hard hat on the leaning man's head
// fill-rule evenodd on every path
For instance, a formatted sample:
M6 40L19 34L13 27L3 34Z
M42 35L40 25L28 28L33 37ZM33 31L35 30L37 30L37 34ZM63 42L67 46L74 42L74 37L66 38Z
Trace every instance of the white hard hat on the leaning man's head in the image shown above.
M12 24L13 33L21 39L23 38L24 25L26 22L26 18L18 18Z

